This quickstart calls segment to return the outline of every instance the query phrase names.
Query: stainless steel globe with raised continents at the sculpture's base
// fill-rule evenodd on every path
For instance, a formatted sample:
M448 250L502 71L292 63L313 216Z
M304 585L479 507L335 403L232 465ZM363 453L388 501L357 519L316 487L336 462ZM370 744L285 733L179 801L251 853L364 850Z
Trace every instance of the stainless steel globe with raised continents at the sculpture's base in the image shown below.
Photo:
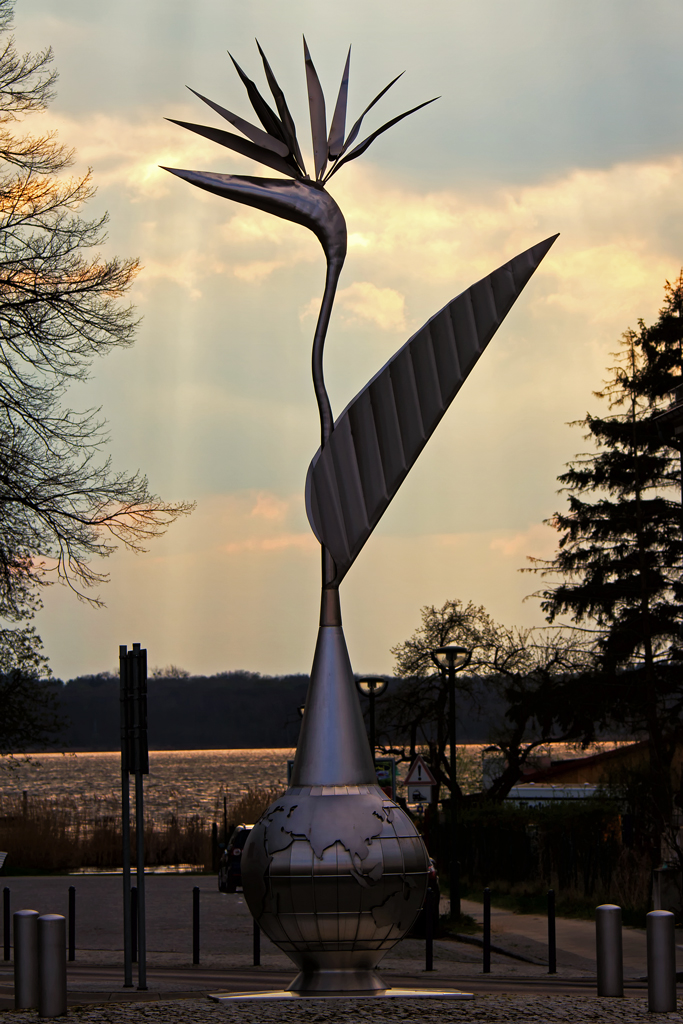
M299 968L292 991L383 991L378 963L424 902L428 857L378 785L292 786L242 857L254 919Z

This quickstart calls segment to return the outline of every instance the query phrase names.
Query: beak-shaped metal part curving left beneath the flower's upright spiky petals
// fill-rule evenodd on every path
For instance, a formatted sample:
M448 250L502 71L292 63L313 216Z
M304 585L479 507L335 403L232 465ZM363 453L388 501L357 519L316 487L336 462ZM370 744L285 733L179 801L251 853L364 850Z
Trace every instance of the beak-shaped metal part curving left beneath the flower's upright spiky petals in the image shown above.
M343 262L346 255L346 222L332 196L319 185L284 178L183 171L175 167L165 167L164 170L216 196L303 224L319 240L329 263Z

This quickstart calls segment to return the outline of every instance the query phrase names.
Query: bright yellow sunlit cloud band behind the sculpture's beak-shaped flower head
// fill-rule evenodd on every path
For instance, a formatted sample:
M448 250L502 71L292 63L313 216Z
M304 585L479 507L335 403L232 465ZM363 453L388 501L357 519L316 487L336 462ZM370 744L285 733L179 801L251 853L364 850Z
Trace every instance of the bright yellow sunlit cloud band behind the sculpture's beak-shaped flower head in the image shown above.
M180 104L174 113L191 118L190 111ZM184 255L188 249L200 254L193 255L200 272L227 268L254 286L282 266L319 259L317 242L298 225L217 203L201 189L193 190L190 214L186 190L180 194L160 164L263 171L168 124L158 112L142 111L135 119L105 114L68 118L54 112L46 117L60 138L77 147L78 166L93 166L100 186L123 188L134 203L162 204L156 221L163 245L154 253L150 276L188 287L184 267L178 268L178 260L189 258ZM40 127L40 118L33 119L32 129ZM386 331L419 326L416 307L425 288L467 287L490 271L492 260L496 265L558 230L561 239L553 258L537 273L545 278L545 290L541 294L537 289L536 306L581 311L596 324L606 322L623 307L625 296L645 299L653 279L674 272L669 253L677 251L683 227L681 156L575 168L533 184L444 186L428 193L366 162L335 178L332 187L349 228L345 272L353 279L339 292L339 308L349 314L347 323L368 322ZM169 240L164 222L175 225L178 218L183 228L178 232L174 226L175 239ZM187 246L190 221L201 248ZM144 222L141 226L144 230ZM311 300L302 315L316 312L317 301Z

